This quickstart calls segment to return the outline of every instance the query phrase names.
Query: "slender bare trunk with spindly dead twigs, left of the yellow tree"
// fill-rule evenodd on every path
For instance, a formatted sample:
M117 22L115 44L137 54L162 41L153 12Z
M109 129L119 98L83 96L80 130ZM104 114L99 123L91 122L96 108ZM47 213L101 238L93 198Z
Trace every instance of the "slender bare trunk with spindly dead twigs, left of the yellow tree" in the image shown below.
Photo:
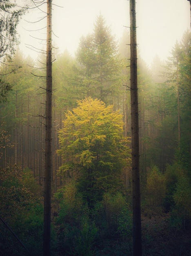
M51 173L52 173L52 0L47 0L47 89L44 184L43 256L51 255Z

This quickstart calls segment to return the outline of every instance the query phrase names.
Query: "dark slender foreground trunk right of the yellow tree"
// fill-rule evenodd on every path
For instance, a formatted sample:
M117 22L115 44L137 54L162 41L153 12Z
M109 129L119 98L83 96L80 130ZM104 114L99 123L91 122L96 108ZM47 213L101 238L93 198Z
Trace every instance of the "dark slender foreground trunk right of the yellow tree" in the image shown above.
M131 39L131 136L133 188L133 256L142 256L139 164L139 111L137 88L137 36L135 0L130 0Z

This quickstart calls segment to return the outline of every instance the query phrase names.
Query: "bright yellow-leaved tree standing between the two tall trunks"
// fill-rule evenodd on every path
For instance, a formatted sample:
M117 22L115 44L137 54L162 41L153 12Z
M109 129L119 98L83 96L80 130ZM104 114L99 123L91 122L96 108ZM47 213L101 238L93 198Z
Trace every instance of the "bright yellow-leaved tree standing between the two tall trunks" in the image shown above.
M60 172L75 175L79 191L91 206L104 192L120 189L120 174L130 158L122 115L112 108L90 97L78 101L59 131L58 153L64 161Z

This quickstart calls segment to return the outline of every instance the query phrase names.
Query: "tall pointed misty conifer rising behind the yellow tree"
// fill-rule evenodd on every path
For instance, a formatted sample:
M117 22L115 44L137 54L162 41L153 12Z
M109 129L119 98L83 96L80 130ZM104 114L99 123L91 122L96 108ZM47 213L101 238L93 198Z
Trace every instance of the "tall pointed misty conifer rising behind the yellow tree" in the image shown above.
M117 43L106 26L104 17L98 16L92 34L82 37L77 52L85 96L98 97L104 102L117 94L120 72Z

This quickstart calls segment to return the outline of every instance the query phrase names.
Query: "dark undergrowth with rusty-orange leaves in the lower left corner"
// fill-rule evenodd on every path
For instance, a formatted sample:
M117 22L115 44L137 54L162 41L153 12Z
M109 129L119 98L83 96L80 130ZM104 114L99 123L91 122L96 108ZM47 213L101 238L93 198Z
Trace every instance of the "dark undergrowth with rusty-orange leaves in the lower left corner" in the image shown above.
M0 215L33 255L42 254L43 207L38 190L29 169L22 171L16 165L0 169ZM19 253L22 248L5 226L0 237L0 254L26 255Z

